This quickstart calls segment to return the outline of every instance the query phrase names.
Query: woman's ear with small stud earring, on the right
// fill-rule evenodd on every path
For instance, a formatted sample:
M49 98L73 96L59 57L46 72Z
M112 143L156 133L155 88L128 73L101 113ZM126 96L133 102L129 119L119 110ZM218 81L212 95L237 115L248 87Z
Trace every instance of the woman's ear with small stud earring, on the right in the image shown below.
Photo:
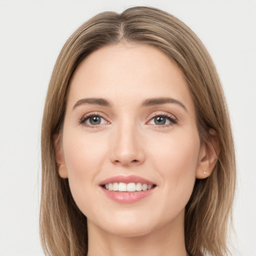
M206 178L211 174L217 162L219 151L217 133L214 129L209 129L208 141L201 144L196 169L196 178Z

